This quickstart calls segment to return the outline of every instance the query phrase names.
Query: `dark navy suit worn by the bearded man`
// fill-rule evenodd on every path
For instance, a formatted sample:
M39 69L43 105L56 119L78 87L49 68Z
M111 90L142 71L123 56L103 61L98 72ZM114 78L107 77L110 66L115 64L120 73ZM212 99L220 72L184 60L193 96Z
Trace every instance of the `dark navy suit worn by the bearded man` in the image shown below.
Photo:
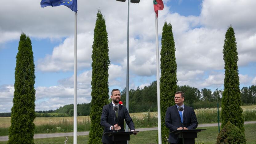
M118 118L115 117L115 111L113 110L112 102L110 104L103 106L101 121L100 121L100 124L104 126L103 134L105 132L113 131L113 130L109 130L110 126L114 126L117 123L118 123L118 126L121 126L121 130L119 131L125 131L124 120L126 121L127 126L130 128L130 130L135 130L134 123L126 107L120 104L118 104L118 106L119 106ZM115 120L114 120L114 117L115 117ZM102 142L109 143L109 144L113 143L113 141L111 140L111 137L109 137L108 135L102 135Z

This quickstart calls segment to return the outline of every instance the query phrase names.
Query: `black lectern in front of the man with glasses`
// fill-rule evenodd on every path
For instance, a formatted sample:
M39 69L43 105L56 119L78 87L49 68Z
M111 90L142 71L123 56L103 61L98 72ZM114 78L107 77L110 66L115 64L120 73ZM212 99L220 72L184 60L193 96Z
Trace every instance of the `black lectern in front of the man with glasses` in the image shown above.
M195 129L195 130L174 130L170 133L178 135L178 138L182 138L183 144L195 144L195 138L197 138L197 133L206 129Z

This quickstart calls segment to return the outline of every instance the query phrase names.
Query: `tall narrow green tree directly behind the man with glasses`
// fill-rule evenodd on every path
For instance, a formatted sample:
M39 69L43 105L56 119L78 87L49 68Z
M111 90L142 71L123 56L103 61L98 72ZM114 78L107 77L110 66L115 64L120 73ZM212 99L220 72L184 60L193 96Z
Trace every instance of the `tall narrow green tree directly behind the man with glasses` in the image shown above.
M165 126L165 114L169 106L174 105L174 94L177 88L177 63L175 58L175 42L171 23L165 22L161 39L161 78L160 78L160 105L162 143L168 143L169 129Z

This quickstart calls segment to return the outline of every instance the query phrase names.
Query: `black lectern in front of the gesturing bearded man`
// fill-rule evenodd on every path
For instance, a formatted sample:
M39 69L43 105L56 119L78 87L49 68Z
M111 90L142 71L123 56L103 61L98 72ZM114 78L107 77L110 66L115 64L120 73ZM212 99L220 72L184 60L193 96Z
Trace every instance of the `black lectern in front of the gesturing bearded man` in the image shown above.
M103 135L108 135L112 137L112 141L115 144L127 144L127 141L130 141L130 135L134 132L138 133L139 131L119 131L119 132L106 132Z

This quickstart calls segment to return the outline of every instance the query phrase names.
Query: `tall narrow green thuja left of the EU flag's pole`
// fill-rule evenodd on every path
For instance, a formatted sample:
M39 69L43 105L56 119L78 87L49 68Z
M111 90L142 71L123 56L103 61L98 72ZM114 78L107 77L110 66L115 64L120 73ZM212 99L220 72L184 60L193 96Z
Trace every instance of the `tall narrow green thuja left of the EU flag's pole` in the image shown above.
M9 144L34 143L35 65L30 38L22 33L16 56Z

